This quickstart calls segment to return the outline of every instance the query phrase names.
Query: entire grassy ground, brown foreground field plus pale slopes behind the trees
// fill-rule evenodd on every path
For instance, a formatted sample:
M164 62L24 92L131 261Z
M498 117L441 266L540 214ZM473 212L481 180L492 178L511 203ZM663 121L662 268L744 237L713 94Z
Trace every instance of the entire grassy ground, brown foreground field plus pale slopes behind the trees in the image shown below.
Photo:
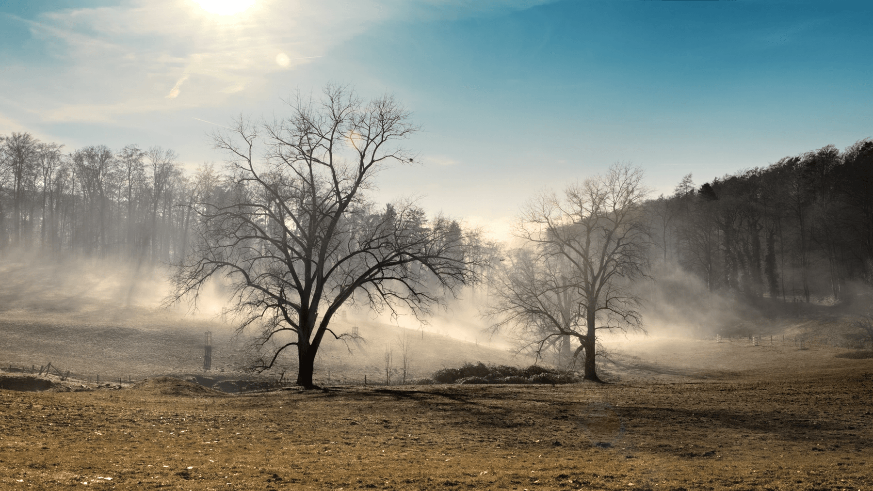
M228 395L149 378L120 389L114 380L128 375L197 372L205 330L216 333L213 366L225 374L237 372L244 353L227 326L151 310L146 294L160 290L160 278L148 286L136 274L110 273L91 263L0 263L3 363L52 361L104 381L85 390L95 385L0 380L3 491L873 488L873 359L798 350L781 338L827 336L830 319L748 326L780 336L765 346L607 339L609 385ZM361 331L368 347L325 352L322 383L327 367L333 380L380 373L384 346L400 331ZM416 341L416 378L463 361L526 365L430 333ZM52 388L7 390L34 384ZM69 389L83 392L62 392Z

